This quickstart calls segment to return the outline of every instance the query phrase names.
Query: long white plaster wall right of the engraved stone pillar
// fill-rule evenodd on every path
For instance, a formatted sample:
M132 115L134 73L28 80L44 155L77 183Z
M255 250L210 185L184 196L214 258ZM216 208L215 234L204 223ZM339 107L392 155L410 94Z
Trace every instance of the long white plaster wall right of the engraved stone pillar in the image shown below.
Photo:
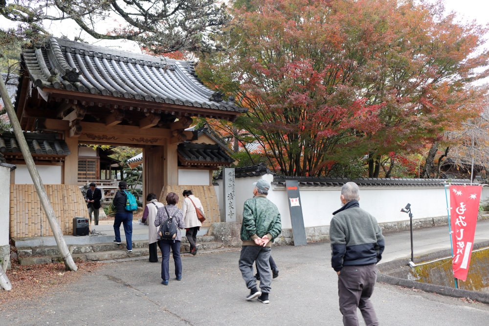
M273 181L273 175L236 178L236 214L243 217L244 201L253 196L253 182L260 178ZM222 185L222 180L219 180ZM341 187L301 187L302 213L305 227L330 225L333 212L341 207ZM222 194L220 195L222 196ZM483 200L489 198L489 188L483 191ZM268 193L277 205L282 217L282 228L292 228L285 187L272 185ZM220 198L221 200L221 198ZM445 189L443 187L361 187L360 207L377 218L379 223L408 220L400 209L411 204L413 217L429 218L446 216Z

